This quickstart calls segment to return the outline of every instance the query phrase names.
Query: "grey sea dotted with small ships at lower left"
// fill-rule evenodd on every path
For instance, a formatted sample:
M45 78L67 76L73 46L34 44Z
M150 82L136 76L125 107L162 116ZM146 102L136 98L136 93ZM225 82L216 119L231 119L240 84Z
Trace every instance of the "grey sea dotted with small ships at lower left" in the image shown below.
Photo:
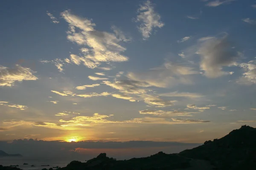
M19 165L18 168L22 170L42 170L44 168L49 169L50 167L66 167L73 160L54 160L54 159L35 159L28 157L0 157L0 165L10 166L10 165ZM78 160L79 161L79 160ZM84 160L80 160L85 162ZM27 163L27 165L23 165ZM34 165L34 167L31 167ZM49 166L41 166L49 165Z

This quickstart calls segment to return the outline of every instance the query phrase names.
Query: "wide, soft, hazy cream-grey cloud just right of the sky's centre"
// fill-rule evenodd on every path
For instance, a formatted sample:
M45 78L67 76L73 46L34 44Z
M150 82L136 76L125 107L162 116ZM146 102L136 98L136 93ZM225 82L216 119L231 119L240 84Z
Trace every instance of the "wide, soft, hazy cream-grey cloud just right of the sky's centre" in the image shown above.
M194 68L166 62L159 68L152 68L144 73L128 72L131 80L148 83L148 85L167 88L177 84L192 84L192 74L199 74Z

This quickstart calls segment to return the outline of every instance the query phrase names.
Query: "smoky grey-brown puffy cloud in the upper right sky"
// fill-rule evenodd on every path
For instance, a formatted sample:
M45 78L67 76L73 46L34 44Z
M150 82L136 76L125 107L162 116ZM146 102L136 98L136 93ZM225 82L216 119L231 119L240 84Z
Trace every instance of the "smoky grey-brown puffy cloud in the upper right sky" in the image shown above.
M209 78L229 74L229 72L223 71L222 68L237 65L236 60L239 58L239 54L233 51L228 42L227 36L205 40L197 54L201 56L201 70Z

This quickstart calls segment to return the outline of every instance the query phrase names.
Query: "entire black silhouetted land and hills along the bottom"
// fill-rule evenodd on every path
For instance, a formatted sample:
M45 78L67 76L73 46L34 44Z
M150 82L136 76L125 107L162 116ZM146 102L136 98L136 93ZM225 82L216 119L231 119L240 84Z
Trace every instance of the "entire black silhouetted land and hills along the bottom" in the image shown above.
M243 125L221 139L208 140L201 146L180 153L159 152L145 158L121 161L101 153L87 162L72 161L67 167L58 170L255 170L255 168L256 128ZM0 165L0 170L20 169Z

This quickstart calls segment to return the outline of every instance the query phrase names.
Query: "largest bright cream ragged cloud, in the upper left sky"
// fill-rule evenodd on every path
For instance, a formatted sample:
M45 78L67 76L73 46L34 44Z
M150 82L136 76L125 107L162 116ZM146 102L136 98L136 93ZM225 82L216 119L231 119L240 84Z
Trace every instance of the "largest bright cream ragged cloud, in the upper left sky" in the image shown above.
M120 34L116 36L105 31L97 31L92 20L73 15L70 11L62 12L61 16L69 23L67 39L83 46L80 48L80 56L70 55L70 63L82 63L88 68L97 68L102 62L128 61L128 57L120 54L126 50L119 45L120 41L125 41Z

